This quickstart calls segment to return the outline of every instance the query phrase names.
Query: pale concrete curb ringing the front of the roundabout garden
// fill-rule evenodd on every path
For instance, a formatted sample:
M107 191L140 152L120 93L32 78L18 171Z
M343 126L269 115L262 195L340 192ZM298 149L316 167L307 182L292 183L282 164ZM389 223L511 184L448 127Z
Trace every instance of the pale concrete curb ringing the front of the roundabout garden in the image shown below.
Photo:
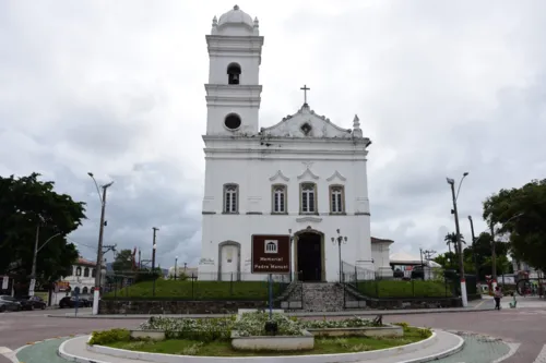
M450 332L441 331L441 334ZM453 335L454 336L454 335ZM428 356L414 359L410 361L404 361L400 363L419 363L429 362L431 360L440 359L459 352L464 346L464 339L455 336L458 338L458 343L440 353L431 354ZM67 353L66 346L70 344L74 339L64 341L59 347L59 355L70 362L79 363L109 363L106 361L97 361L95 359L86 359L85 356L76 356ZM86 346L86 350L90 352L110 355L114 360L116 358L146 361L155 363L203 363L203 362L215 362L215 363L235 363L239 361L245 362L260 362L260 363L274 363L274 362L285 362L285 363L331 363L331 362L375 362L378 359L388 359L390 356L400 356L405 353L417 352L423 349L427 349L439 340L438 334L432 331L432 336L423 341L394 347L383 350L369 351L369 352L357 352L357 353L342 353L342 354L313 354L313 355L278 355L278 356L192 356L192 355L174 355L174 354L162 354L162 353L146 353L146 352L135 352L123 349L116 349L103 346Z

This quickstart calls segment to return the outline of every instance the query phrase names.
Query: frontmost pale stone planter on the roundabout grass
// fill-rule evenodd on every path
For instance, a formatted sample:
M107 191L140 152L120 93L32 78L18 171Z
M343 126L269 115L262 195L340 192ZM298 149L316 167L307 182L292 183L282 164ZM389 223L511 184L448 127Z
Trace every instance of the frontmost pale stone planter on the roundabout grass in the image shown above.
M232 347L237 350L296 351L314 348L314 336L304 330L302 336L241 337L232 331Z

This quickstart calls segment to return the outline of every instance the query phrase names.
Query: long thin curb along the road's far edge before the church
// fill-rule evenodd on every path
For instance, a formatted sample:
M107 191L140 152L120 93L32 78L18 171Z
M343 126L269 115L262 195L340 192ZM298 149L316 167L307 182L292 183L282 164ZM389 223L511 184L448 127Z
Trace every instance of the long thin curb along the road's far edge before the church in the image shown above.
M494 312L495 308L466 308L466 310L424 310L424 311L343 311L343 312L309 312L309 313L286 313L287 316L296 317L316 317L316 316L375 316L375 315L419 315L419 314L454 314L454 313L482 313ZM234 313L235 314L235 313ZM91 315L82 314L74 316L73 314L58 315L47 314L47 317L57 318L80 318L80 319L147 319L154 317L178 317L178 318L205 318L205 317L226 317L234 314L134 314L134 315Z

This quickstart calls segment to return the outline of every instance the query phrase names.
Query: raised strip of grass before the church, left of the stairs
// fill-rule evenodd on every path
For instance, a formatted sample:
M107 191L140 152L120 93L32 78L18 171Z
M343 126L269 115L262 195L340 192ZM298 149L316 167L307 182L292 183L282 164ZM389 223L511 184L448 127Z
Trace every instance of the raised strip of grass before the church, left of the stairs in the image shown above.
M152 281L142 281L128 288L109 292L104 299L117 297L132 300L263 300L269 297L266 281L179 281L158 279L155 298ZM281 293L282 285L273 282L273 295Z

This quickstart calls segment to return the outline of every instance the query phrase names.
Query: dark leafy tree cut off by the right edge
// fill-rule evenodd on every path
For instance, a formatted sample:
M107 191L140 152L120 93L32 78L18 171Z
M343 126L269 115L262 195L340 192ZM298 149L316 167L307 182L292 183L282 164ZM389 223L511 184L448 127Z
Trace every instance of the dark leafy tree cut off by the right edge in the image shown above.
M484 202L483 217L510 233L513 257L546 270L546 179L500 190Z

